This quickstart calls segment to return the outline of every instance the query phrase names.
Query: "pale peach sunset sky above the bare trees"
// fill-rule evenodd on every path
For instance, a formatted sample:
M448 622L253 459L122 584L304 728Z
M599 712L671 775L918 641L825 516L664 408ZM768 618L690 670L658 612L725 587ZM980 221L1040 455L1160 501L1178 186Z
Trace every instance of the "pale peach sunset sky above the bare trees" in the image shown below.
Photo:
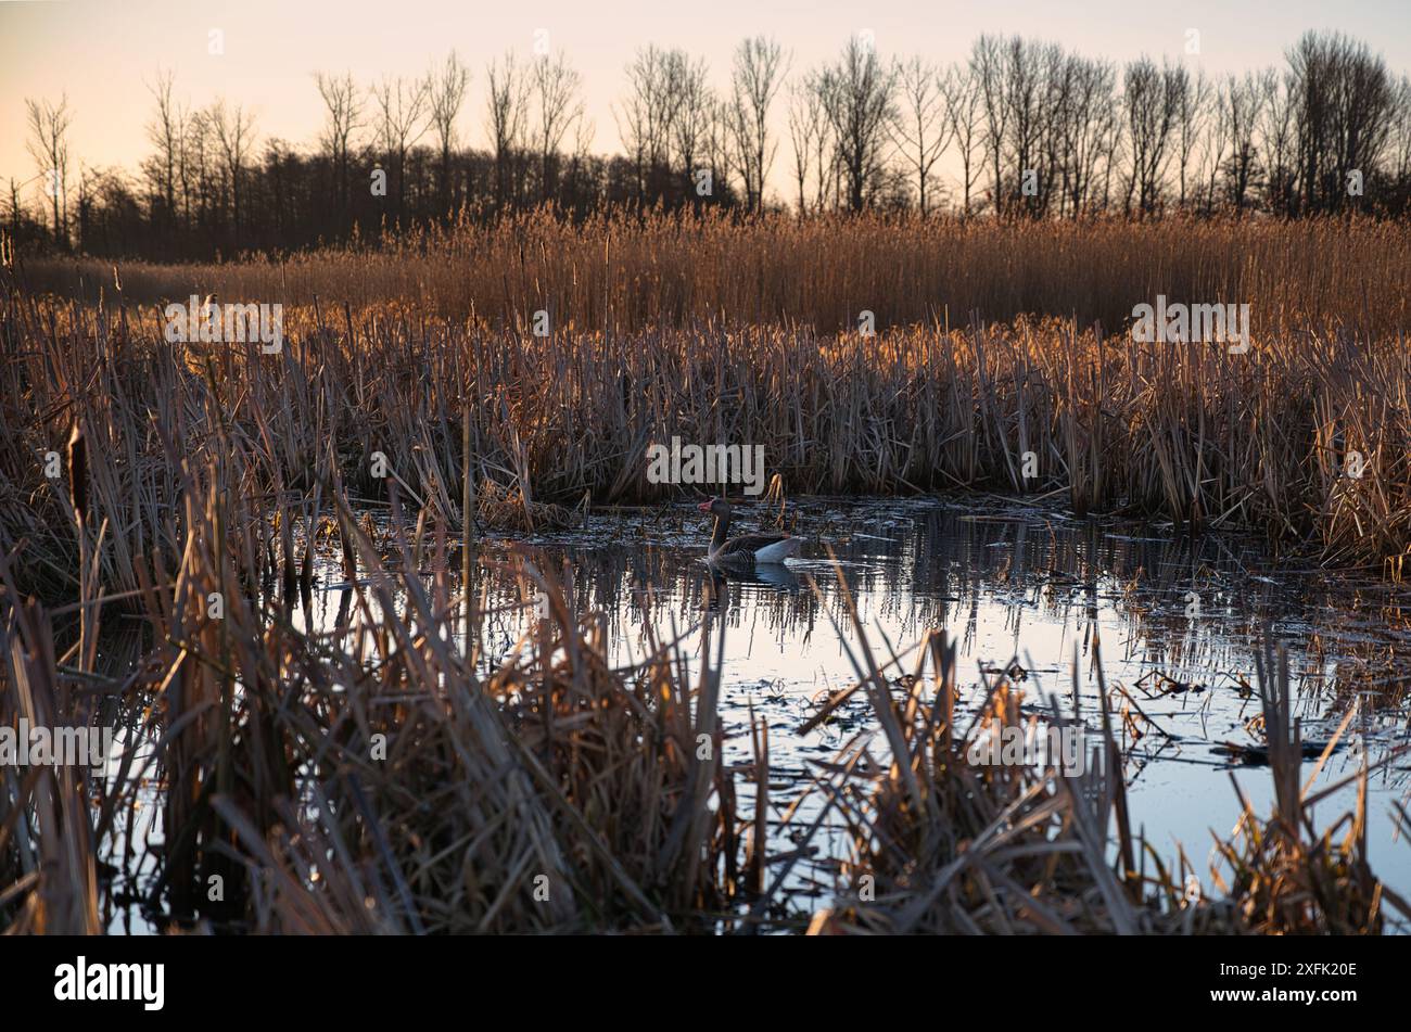
M135 171L151 152L148 83L175 73L175 97L202 107L224 96L255 114L258 138L310 147L323 121L313 72L350 70L363 85L382 76L419 76L454 48L471 68L463 141L484 147L485 63L514 49L533 54L536 32L581 72L593 147L621 149L612 103L625 87L624 65L638 47L683 47L704 56L717 87L728 82L739 39L775 37L797 75L835 55L855 32L871 31L883 56L920 54L951 62L981 32L1023 34L1068 49L1126 61L1168 55L1212 76L1283 65L1284 49L1305 30L1333 28L1366 41L1394 72L1411 72L1411 0L555 0L432 3L429 0L0 0L0 185L11 178L27 196L42 180L25 151L25 97L72 110L71 180L89 168ZM1189 30L1199 54L1187 54ZM212 54L212 32L223 52ZM785 133L785 103L775 125ZM785 190L789 147L770 175Z

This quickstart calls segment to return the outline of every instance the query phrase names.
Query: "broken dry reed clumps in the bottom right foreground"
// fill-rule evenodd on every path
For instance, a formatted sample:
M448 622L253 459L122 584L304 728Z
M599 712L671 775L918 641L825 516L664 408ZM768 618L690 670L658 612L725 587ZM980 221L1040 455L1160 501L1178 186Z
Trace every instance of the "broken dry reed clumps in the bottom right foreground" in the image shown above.
M855 612L852 619L865 641ZM866 691L880 730L858 735L817 781L851 830L852 857L837 901L814 915L810 933L1379 935L1393 922L1404 926L1411 904L1367 863L1371 767L1364 760L1356 774L1312 791L1345 720L1300 787L1288 667L1264 641L1257 681L1276 806L1260 818L1232 778L1243 812L1230 835L1215 835L1209 892L1184 852L1171 861L1132 833L1126 757L1113 733L1101 649L1094 661L1101 730L1078 771L1054 758L1029 767L969 761L979 735L1082 720L1057 712L1053 701L1043 718L1023 713L1023 689L1007 674L985 687L978 716L958 716L955 646L944 632L919 643L902 698L888 678L903 668L900 658L893 653L883 663L861 649L852 691ZM1353 809L1319 830L1314 806L1349 782L1359 787Z

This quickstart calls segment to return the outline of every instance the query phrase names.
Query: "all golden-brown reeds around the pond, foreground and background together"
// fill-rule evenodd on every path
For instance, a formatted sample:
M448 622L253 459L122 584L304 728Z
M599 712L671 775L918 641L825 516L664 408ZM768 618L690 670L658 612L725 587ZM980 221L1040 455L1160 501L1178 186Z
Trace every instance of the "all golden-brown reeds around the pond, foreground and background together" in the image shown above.
M1120 777L968 766L945 634L882 660L858 623L859 691L906 761L849 746L816 775L852 843L840 878L871 876L876 897L810 918L782 890L792 860L780 873L761 853L763 723L753 764L696 749L722 733L708 622L691 680L674 641L614 668L525 564L549 613L487 675L487 613L453 586L481 561L459 544L471 512L533 527L652 499L645 453L673 434L763 446L790 493L1050 496L1257 527L1397 577L1404 224L536 214L380 244L190 266L8 252L0 719L117 705L155 744L99 784L65 768L0 794L0 926L99 930L119 885L161 928L267 932L1376 932L1408 916L1369 870L1360 802L1314 830L1305 808L1332 790L1300 792L1273 654L1259 695L1277 805L1246 804L1218 846L1228 878L1191 901L1188 861L1141 839ZM164 306L210 293L284 305L282 345L169 341ZM1157 295L1249 305L1250 350L1134 341L1133 307ZM360 499L388 506L385 534ZM358 619L313 633L270 585L285 603L308 592L320 550ZM120 622L140 633L114 664L100 641ZM902 671L899 699L885 680ZM1026 718L1000 681L978 719ZM385 763L368 760L378 737ZM310 794L316 808L293 802ZM166 832L137 878L133 829L154 805ZM570 885L549 907L543 873ZM231 885L219 902L214 874Z

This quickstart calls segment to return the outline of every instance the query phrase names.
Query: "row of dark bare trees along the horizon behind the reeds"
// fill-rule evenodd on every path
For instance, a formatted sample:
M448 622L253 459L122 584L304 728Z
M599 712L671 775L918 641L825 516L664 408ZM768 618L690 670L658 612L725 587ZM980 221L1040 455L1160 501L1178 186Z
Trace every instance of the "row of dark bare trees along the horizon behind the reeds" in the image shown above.
M790 76L790 63L776 41L745 39L717 89L703 58L641 48L612 106L612 155L591 148L583 78L562 51L485 66L484 147L464 138L474 76L454 51L415 79L316 72L325 117L308 147L261 141L251 113L226 99L183 104L159 73L151 152L135 172L80 162L73 175L66 97L28 99L38 175L28 193L8 180L6 223L21 244L178 259L540 204L569 217L722 207L999 219L1395 217L1411 206L1411 79L1338 32L1305 34L1283 68L1221 79L1017 35L982 35L950 65L885 59L866 35L818 68Z

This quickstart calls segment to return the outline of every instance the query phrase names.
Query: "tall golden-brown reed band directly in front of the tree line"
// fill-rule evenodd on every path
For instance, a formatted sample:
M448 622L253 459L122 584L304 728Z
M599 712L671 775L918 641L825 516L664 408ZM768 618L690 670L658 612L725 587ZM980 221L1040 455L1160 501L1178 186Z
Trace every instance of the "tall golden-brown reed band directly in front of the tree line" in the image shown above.
M1408 320L1411 234L1370 219L1160 219L993 221L886 214L738 219L727 214L601 214L573 223L552 210L485 224L387 235L347 248L251 255L220 264L123 262L134 302L322 300L357 309L401 303L416 314L529 327L545 309L555 331L631 333L780 324L820 334L964 326L1022 314L1101 321L1112 334L1139 302L1250 303L1256 334L1340 326L1394 336ZM25 264L35 290L96 300L113 265Z

